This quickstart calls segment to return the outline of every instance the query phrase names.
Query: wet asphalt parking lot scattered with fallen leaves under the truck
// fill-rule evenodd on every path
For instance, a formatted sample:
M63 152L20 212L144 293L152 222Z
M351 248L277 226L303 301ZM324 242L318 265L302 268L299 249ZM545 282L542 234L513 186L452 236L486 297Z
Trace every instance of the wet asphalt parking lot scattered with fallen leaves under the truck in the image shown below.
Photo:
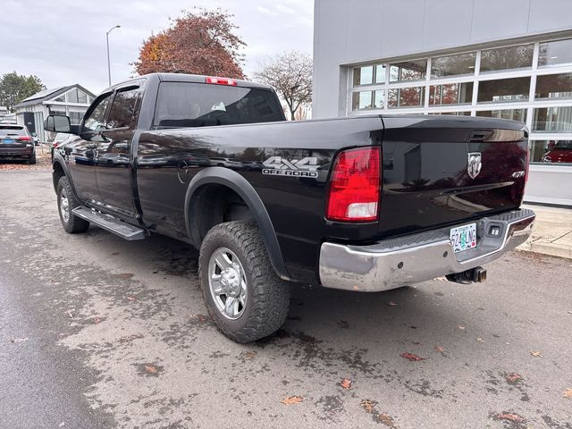
M282 330L239 345L209 320L195 250L66 234L49 171L0 180L2 428L572 428L570 260L294 285Z

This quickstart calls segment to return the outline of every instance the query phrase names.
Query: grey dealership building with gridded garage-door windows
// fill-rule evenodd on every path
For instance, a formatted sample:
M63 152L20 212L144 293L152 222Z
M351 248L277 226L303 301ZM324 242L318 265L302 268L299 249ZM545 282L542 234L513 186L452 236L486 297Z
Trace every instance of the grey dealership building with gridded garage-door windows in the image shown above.
M315 0L313 117L525 122L526 201L572 206L572 1Z

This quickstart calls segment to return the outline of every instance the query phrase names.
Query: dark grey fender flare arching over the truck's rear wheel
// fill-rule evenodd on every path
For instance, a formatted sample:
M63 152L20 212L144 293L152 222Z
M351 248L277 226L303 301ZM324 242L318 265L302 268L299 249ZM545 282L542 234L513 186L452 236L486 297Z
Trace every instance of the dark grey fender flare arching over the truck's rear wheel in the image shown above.
M189 183L185 196L185 224L189 238L195 243L195 246L197 248L200 247L200 237L198 237L198 231L194 231L190 224L190 201L198 189L207 184L223 185L240 195L262 232L262 238L265 241L268 257L270 257L274 271L282 279L290 280L290 274L286 269L286 265L284 265L276 232L262 199L260 199L257 191L244 177L228 168L207 167L198 172Z

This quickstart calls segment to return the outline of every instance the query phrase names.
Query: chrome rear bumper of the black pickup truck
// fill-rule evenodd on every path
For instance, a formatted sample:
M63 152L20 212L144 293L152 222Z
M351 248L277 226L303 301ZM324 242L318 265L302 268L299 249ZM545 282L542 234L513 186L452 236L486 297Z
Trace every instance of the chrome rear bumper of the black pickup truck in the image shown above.
M524 243L532 232L534 217L532 210L523 209L473 221L477 246L457 254L449 239L452 227L369 246L324 242L320 248L320 282L326 288L376 292L462 273ZM501 228L498 235L490 234L492 226Z

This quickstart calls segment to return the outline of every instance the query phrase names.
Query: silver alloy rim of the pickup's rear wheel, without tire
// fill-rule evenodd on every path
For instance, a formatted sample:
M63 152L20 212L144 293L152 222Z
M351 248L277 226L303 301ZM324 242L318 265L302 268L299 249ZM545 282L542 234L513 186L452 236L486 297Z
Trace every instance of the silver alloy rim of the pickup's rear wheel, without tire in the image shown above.
M208 287L218 311L236 320L247 303L247 278L239 257L230 248L217 248L208 262Z

